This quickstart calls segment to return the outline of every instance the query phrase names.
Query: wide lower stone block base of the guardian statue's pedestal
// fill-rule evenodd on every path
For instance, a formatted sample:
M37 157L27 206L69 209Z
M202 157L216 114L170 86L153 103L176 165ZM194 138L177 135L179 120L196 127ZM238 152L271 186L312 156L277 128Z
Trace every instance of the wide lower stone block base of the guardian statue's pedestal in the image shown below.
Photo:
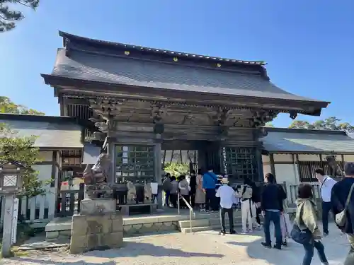
M70 253L121 247L123 243L123 219L120 213L101 215L74 215Z

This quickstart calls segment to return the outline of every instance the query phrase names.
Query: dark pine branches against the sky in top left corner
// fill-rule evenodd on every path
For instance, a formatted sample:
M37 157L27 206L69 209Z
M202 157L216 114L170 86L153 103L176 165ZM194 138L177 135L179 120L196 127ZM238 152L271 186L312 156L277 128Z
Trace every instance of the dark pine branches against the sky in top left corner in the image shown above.
M14 10L20 7L38 8L40 0L0 0L0 33L12 30L16 27L16 22L23 20L21 11Z

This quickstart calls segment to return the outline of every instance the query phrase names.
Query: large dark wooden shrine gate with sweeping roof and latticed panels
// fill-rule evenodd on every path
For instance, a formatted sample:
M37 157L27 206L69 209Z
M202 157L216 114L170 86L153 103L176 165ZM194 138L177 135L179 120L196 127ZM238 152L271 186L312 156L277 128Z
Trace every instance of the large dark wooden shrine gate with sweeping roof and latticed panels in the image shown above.
M223 147L230 177L261 179L261 126L280 112L293 119L297 113L319 115L329 103L277 88L262 61L60 35L64 48L53 73L42 77L55 88L61 114L94 122L96 134L86 131L86 141L106 139L118 171L118 164L125 164L122 146L152 146L140 151L144 158L135 153L132 159L153 163L159 182L161 150L198 150L199 167L212 165L222 173ZM138 177L134 172L132 177Z

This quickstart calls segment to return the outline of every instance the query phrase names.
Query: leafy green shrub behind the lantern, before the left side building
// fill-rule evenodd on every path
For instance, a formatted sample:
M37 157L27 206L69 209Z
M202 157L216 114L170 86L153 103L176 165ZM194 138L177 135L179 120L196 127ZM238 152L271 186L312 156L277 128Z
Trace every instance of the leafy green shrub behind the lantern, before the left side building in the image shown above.
M28 167L23 174L23 194L22 196L36 196L44 194L43 182L38 180L38 172L31 167L39 162L39 149L34 148L35 136L21 137L15 131L11 131L5 124L0 124L0 161L9 159Z

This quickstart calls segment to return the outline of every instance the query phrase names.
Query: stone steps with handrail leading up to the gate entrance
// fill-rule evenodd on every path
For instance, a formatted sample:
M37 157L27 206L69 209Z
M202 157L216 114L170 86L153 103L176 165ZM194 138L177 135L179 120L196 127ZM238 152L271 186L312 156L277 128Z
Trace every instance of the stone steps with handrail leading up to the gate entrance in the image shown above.
M229 228L229 220L225 216L225 223ZM241 226L241 211L234 211L234 226ZM190 220L179 220L178 230L181 232L190 232ZM221 230L219 213L200 213L197 218L192 220L192 232L200 232L207 230Z

